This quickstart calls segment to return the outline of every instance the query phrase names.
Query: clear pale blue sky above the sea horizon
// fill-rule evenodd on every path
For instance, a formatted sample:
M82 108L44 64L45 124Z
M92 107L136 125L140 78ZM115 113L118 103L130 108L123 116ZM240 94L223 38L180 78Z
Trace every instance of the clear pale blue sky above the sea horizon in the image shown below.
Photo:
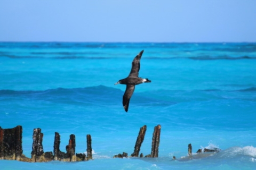
M256 42L256 1L0 0L0 41Z

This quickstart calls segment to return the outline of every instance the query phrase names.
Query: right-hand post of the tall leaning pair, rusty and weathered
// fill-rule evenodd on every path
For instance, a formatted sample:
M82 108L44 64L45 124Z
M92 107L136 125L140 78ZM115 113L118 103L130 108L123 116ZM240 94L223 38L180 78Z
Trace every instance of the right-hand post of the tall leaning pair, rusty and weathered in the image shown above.
M158 157L158 147L160 143L160 132L161 132L161 125L155 126L152 138L152 148L151 148L151 157L157 158Z

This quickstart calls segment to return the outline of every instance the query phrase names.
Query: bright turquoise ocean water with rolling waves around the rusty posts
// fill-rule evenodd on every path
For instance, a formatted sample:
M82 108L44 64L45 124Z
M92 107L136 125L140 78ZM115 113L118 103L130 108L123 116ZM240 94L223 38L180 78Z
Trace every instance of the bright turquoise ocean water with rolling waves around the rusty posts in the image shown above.
M141 51L139 77L126 113L126 86ZM256 169L256 43L0 43L0 126L21 125L23 154L31 157L33 129L53 151L54 132L76 153L91 134L93 160L25 163L1 169ZM158 158L113 158L151 153L161 125ZM193 156L188 157L188 144ZM219 152L196 154L198 149ZM173 156L177 159L173 160Z

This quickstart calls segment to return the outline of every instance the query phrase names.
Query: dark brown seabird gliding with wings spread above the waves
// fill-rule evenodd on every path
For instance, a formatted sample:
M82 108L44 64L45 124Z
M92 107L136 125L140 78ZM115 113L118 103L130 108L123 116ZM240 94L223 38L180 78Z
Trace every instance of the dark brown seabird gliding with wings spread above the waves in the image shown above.
M132 69L127 78L121 79L115 83L116 84L126 84L126 89L123 96L123 106L125 112L128 112L130 99L132 97L133 91L137 84L141 83L150 83L151 80L139 78L140 71L140 58L143 54L144 50L142 50L137 56L134 57L132 61Z

